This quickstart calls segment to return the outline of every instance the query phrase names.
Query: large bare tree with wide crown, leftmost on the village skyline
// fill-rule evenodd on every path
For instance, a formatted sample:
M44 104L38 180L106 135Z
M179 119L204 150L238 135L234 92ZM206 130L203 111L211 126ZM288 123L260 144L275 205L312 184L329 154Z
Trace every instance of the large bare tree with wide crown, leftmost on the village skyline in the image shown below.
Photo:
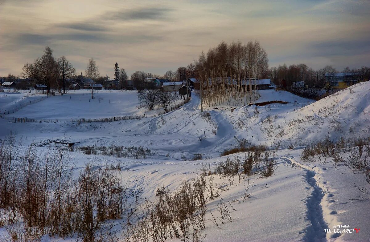
M22 67L23 78L31 78L36 84L46 85L50 92L51 82L55 80L57 74L57 61L53 57L53 50L46 47L42 57L34 60L33 63L27 63Z

